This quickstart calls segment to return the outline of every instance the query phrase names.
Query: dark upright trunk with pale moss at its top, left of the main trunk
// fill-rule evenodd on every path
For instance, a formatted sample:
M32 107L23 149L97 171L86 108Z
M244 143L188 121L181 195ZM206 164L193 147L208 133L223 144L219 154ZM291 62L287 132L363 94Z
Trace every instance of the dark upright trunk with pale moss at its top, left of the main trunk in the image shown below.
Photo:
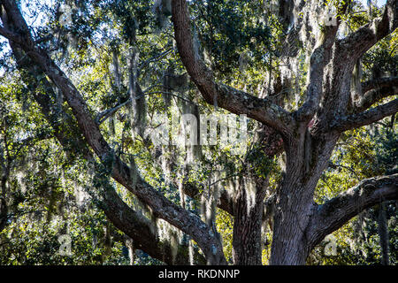
M243 185L236 195L233 208L233 264L262 264L261 225L265 187L257 185L251 189Z

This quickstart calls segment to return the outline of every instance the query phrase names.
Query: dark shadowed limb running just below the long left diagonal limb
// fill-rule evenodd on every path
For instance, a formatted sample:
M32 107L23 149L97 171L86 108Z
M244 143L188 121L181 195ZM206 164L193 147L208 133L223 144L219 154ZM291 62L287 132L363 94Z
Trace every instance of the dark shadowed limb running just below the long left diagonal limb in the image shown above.
M23 55L18 50L13 50L14 55L18 61ZM40 96L34 95L35 101L39 104L44 114L44 117L50 122L54 130L54 135L57 141L64 147L66 152L70 152L73 149L75 154L77 151L81 157L88 160L88 162L95 162L95 159L84 141L81 135L73 133L79 133L78 127L72 119L54 119L54 114L51 113L51 105L49 102L50 94L55 96L53 89L51 88L50 81L42 76L42 73L34 68L34 65L27 65L28 72L34 77L41 77L40 83L44 85L46 89L45 94ZM32 85L32 92L36 86ZM52 121L57 120L59 124ZM64 129L61 131L61 129ZM77 146L79 145L79 146ZM119 228L120 231L126 233L130 238L134 240L137 249L144 250L149 256L157 258L166 264L188 264L188 247L180 247L177 255L173 256L173 250L167 242L162 242L157 237L157 227L149 221L149 219L143 217L140 213L130 208L120 196L113 190L109 182L105 180L103 186L108 186L109 189L101 188L99 195L103 197L103 202L100 203L100 207L111 221L111 223ZM205 263L203 256L195 253L195 259L200 263Z

